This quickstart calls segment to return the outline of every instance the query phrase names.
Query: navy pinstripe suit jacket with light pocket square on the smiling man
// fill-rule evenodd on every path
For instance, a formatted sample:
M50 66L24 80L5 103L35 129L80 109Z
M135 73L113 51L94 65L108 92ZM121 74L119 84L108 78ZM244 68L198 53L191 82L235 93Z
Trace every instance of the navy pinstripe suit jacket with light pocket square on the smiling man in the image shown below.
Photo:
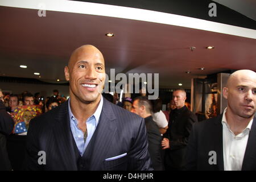
M104 99L100 121L82 158L88 170L148 170L147 147L144 119ZM38 164L39 151L46 152L46 164ZM76 151L68 101L30 121L26 169L77 170Z

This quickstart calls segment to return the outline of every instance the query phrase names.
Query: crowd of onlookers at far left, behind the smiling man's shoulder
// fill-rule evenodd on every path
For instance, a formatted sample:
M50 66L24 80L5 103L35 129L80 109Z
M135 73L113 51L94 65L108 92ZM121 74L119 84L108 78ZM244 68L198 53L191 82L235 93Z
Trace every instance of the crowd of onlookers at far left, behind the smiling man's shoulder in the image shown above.
M1 121L1 125L7 127L0 132L0 160L2 159L2 156L4 156L2 159L3 163L0 165L0 170L22 169L22 160L24 159L23 154L26 147L26 138L24 137L27 135L27 130L22 133L14 132L15 125L18 122L16 121L15 114L17 115L18 112L22 110L22 106L39 106L39 113L43 114L63 104L66 100L67 98L61 96L57 89L53 90L52 96L47 97L46 100L44 100L44 97L42 97L39 92L34 95L27 91L24 91L21 94L10 94L0 90L1 118L8 121L7 123ZM23 115L24 117L20 120L24 121L26 123L24 126L28 128L30 119L35 116L26 112L24 112ZM28 119L28 121L26 121L26 119ZM17 143L16 139L18 139L19 143ZM18 157L15 155L16 151L20 151ZM14 158L12 158L12 156L14 156Z

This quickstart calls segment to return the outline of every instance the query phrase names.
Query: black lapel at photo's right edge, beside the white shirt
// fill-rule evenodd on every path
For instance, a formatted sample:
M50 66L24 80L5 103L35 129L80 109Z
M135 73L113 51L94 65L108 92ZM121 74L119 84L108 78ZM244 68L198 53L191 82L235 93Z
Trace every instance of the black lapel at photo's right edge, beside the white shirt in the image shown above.
M245 150L245 156L243 157L242 170L250 170L250 164L255 162L256 157L256 118L253 119L253 124L251 125L251 130L249 133L249 138Z

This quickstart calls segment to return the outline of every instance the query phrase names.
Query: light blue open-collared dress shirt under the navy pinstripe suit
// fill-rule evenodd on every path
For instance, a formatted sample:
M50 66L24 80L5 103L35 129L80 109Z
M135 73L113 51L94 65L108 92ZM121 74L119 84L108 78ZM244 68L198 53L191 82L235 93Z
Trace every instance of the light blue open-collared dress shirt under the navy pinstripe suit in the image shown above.
M95 113L92 116L90 116L86 121L88 136L86 138L86 142L84 142L84 133L77 126L77 119L75 118L75 116L73 115L73 113L71 111L70 99L68 101L68 113L69 113L70 127L71 127L71 131L73 134L73 138L76 141L76 146L79 149L81 156L84 154L86 147L88 146L90 139L92 139L93 133L96 130L96 127L97 127L99 119L100 119L102 106L103 106L103 98L101 96L100 104L98 105Z

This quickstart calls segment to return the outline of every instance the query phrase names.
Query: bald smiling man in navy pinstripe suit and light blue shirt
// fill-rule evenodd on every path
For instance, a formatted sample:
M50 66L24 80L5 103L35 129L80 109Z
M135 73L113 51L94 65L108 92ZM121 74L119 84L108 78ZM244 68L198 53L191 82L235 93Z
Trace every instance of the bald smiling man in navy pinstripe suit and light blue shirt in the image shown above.
M105 62L77 48L64 68L70 98L30 121L28 170L150 170L144 119L101 96Z

